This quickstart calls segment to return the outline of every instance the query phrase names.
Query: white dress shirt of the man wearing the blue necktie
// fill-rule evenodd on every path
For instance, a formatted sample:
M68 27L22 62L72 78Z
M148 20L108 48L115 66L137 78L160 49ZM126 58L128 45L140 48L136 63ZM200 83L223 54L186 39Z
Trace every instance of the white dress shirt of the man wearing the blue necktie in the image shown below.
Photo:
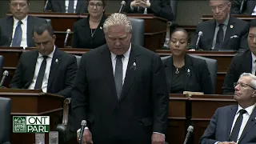
M12 40L10 42L10 46L13 43L13 39L14 39L14 34L15 34L15 30L16 27L18 26L18 19L14 18L14 26L13 26L13 35L12 35ZM25 48L27 47L27 41L26 41L26 33L27 33L27 16L26 18L23 18L22 20L22 42L21 42L21 47L23 47L23 49L25 50Z

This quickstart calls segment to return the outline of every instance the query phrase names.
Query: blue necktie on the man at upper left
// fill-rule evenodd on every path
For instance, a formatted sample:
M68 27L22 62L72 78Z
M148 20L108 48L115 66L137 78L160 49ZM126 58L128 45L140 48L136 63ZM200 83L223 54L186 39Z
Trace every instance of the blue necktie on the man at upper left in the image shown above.
M18 21L18 25L16 26L13 42L11 47L19 47L22 43L22 21Z

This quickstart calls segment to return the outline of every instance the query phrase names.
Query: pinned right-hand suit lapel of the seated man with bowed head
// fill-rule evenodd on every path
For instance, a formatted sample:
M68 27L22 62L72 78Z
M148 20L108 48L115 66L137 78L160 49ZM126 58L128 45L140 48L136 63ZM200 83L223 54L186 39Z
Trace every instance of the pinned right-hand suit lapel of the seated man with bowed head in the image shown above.
M47 91L50 90L50 86L54 78L56 77L56 72L58 71L59 63L62 61L60 56L61 56L60 50L58 50L58 48L55 47L54 57L52 58L51 65L50 65L50 74L48 79Z

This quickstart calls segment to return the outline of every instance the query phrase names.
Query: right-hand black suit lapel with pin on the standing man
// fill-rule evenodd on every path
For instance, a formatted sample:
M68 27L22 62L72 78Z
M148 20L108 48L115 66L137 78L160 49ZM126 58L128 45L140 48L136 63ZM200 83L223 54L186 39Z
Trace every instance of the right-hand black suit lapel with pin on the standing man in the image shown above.
M139 51L137 48L134 47L134 45L131 45L131 50L130 50L130 57L129 57L129 62L128 62L128 66L126 69L126 78L125 78L125 82L122 86L122 94L121 94L121 98L120 98L120 102L126 98L129 90L130 90L130 86L132 86L133 82L134 82L134 76L136 73L136 70L138 69L138 60L137 57L139 55Z

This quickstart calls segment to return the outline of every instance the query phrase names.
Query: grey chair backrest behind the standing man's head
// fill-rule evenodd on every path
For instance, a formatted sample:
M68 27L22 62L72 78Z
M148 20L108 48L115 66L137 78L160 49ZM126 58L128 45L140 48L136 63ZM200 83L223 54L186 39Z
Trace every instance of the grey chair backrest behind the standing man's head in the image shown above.
M144 19L138 18L129 18L131 22L131 26L133 27L133 36L131 38L131 42L144 46L144 33L145 33L145 22Z

